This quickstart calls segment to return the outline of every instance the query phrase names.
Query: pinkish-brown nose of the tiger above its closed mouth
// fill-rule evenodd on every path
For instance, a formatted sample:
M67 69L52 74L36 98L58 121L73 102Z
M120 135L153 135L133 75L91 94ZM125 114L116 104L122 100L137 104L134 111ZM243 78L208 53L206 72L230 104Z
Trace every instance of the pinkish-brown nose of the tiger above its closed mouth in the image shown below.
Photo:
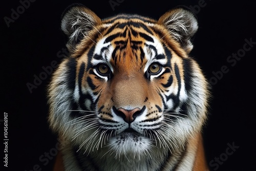
M140 108L135 108L133 110L125 110L123 108L117 109L117 115L121 116L123 120L127 123L131 123L135 120L137 116L140 116L144 111L145 106L143 106L142 110Z

